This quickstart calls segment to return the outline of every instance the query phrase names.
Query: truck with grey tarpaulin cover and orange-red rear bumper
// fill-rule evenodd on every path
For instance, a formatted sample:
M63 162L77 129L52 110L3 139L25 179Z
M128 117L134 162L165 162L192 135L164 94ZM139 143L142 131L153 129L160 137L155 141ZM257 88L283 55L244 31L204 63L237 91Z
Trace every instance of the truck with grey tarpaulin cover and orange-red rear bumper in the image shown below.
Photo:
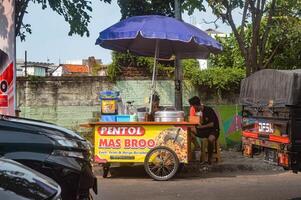
M301 171L301 70L261 70L241 83L243 153Z

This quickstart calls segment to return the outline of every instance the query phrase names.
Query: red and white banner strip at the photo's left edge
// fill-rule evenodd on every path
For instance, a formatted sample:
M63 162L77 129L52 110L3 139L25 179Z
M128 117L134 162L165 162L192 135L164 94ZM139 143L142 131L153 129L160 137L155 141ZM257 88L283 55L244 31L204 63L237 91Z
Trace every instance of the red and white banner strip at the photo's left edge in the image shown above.
M15 115L14 0L0 0L0 114Z

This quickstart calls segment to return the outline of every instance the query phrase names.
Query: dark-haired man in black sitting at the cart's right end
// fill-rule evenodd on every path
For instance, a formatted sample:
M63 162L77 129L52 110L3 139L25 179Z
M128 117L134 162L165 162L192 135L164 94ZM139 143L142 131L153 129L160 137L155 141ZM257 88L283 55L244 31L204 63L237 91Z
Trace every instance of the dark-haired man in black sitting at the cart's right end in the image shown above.
M202 112L202 122L192 129L192 133L196 137L208 139L208 164L211 164L214 143L219 137L218 117L211 107L201 104L201 100L197 96L189 99L189 104L196 112Z

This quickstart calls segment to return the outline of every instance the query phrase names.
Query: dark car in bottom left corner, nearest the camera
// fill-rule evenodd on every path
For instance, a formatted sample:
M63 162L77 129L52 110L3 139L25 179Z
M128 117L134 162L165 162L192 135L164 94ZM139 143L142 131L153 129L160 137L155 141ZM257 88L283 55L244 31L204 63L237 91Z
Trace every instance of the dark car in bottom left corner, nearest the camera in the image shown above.
M61 200L61 188L52 179L12 160L0 158L0 199Z

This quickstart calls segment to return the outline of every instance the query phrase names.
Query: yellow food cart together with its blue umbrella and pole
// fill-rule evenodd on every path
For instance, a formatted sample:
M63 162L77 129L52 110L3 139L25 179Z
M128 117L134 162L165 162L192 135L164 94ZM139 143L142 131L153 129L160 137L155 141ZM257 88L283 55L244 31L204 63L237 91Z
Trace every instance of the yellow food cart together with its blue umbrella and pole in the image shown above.
M221 44L200 29L159 15L122 20L101 31L95 44L118 52L154 57L149 112L156 90L158 59L205 59L210 53L222 51ZM176 88L181 88L181 81L176 81L176 84ZM144 163L151 177L168 180L177 172L179 163L190 161L189 129L197 123L163 121L87 124L94 133L94 160L106 163L105 175L108 163Z

